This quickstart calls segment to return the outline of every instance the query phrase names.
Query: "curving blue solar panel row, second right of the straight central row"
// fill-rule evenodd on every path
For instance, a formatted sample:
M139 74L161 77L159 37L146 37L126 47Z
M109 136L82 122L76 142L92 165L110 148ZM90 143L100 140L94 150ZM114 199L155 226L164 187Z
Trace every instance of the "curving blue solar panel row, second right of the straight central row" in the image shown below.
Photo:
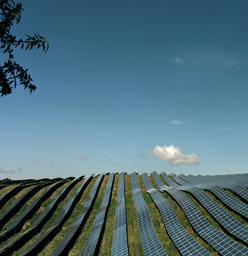
M152 175L158 177L156 172L153 172ZM179 252L183 256L211 256L212 254L198 244L198 242L196 242L196 240L194 240L194 238L180 224L170 203L161 195L161 193L159 193L157 189L152 187L147 173L142 173L141 176L145 190L151 195L153 202L159 208L165 228L173 242L176 244Z

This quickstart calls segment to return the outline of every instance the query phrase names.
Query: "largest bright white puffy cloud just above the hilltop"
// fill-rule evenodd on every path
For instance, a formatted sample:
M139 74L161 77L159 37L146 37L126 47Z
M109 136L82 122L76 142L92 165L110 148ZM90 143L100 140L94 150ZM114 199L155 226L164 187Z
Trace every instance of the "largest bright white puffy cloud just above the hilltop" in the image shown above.
M151 152L144 154L143 156L149 157L151 155L157 156L161 160L168 161L171 165L180 165L183 163L194 164L200 163L198 156L195 154L184 155L180 152L179 148L171 146L156 146Z

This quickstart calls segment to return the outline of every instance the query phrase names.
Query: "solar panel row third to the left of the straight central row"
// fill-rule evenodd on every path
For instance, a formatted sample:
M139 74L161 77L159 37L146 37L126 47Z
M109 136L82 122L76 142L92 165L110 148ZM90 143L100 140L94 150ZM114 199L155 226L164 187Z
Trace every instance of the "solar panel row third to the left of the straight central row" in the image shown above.
M92 175L91 175L92 176ZM54 223L52 223L52 225L50 226L50 228L48 230L46 230L41 236L39 236L39 238L37 238L35 240L35 242L33 242L28 248L26 248L21 254L19 254L19 256L25 256L28 255L30 253L32 254L37 254L40 250L43 248L43 241L48 237L48 235L53 232L53 236L56 233L55 228L58 230L61 223L63 223L64 219L67 216L68 211L70 210L70 208L72 207L72 204L74 203L74 201L76 200L77 197L79 197L79 195L81 195L81 191L83 191L83 189L85 189L85 187L87 186L87 181L91 178L87 177L83 183L77 188L76 192L72 195L72 197L67 201L67 203L65 204L65 206L63 207L62 211L60 212L60 214L58 215L58 217L56 218L56 220L54 221ZM78 179L82 179L82 176L79 177ZM47 242L47 240L45 240L45 242Z

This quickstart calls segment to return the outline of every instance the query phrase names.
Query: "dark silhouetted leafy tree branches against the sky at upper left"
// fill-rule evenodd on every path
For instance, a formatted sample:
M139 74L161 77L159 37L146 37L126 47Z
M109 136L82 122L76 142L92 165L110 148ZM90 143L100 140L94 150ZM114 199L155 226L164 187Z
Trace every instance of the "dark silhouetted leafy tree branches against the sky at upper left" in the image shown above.
M12 93L13 87L11 86L14 83L14 88L17 85L17 80L19 84L24 86L24 89L30 89L30 94L35 91L36 86L31 83L33 81L29 74L27 74L28 69L23 69L19 64L14 61L13 50L17 46L20 46L21 49L25 50L32 48L39 49L40 47L43 51L48 50L48 42L46 38L42 37L38 33L31 37L27 35L27 39L16 39L14 35L10 34L10 28L13 26L14 22L16 24L20 22L22 4L19 2L15 4L12 0L0 0L0 38L1 46L0 49L3 53L9 55L8 60L0 63L0 94L8 95Z

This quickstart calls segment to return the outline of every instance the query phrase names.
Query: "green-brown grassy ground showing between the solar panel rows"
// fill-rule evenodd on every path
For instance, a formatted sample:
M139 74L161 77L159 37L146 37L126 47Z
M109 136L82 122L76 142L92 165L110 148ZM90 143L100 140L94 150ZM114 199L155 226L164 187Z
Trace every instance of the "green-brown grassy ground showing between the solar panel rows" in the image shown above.
M87 220L83 223L83 225L80 229L80 232L77 234L77 236L73 240L74 241L73 244L71 244L70 248L68 248L67 254L64 254L64 255L69 255L69 256L74 256L75 255L76 256L76 255L79 255L81 250L83 249L83 246L84 246L84 244L87 240L87 237L89 236L89 233L91 231L91 228L93 226L93 222L94 222L95 216L97 214L97 211L100 208L101 201L103 199L103 194L104 194L104 191L105 191L105 187L106 187L106 184L107 184L107 181L108 181L108 176L109 175L104 176L104 178L102 180L102 183L101 183L101 187L99 188L97 196L94 200L93 207L92 207L89 215L87 216ZM130 256L136 256L136 255L143 255L143 251L142 251L141 242L140 242L140 239L139 239L138 222L137 222L137 215L136 215L136 210L135 210L134 200L133 200L133 195L132 195L131 177L130 176L131 175L127 175L127 174L125 175L125 203L126 203L126 218L127 218L128 250L129 250L129 255ZM100 256L103 256L103 255L109 255L110 256L111 255L112 238L113 238L113 233L114 233L114 217L115 217L116 199L117 199L117 191L118 191L118 178L119 178L119 175L116 174L114 176L114 185L113 185L112 193L111 193L111 196L110 196L110 203L109 203L108 208L107 208L106 221L105 221L105 224L103 226L103 230L102 230L102 233L101 233L101 236L100 236L100 243L99 243L100 248L97 251L97 254L100 255ZM154 183L151 176L149 176L149 179L150 179L151 184L153 185L153 187L156 188L155 183ZM86 189L83 191L82 196L77 201L73 210L70 212L70 215L68 216L67 220L64 221L63 225L59 228L59 230L56 230L56 233L53 235L53 237L50 238L50 240L46 244L43 244L43 246L42 246L43 249L40 250L40 252L37 255L39 255L39 256L49 255L54 250L54 248L57 246L57 244L60 242L60 240L68 232L68 230L70 229L70 226L72 225L72 223L74 222L76 217L79 215L81 209L83 208L83 205L85 204L85 201L86 201L87 197L89 196L91 188L93 187L96 180L97 180L97 177L93 177L93 179L89 182ZM161 178L161 180L163 181L162 178ZM70 190L68 195L66 195L66 197L60 203L58 203L58 206L56 207L56 210L46 220L45 225L40 230L37 230L37 233L35 233L33 235L30 235L28 241L23 243L20 248L15 248L10 255L19 255L21 252L23 252L23 250L25 250L29 245L31 245L39 236L41 236L41 234L43 234L43 232L45 232L51 226L51 224L55 221L55 219L58 217L58 215L62 211L62 209L63 209L64 205L66 204L66 202L68 201L68 199L70 199L72 197L74 192L81 185L81 183L83 183L83 181L84 181L84 179L79 181ZM50 201L53 198L55 198L56 195L58 195L58 193L60 191L62 191L62 189L64 187L66 187L66 185L68 185L69 182L70 181L67 181L66 183L64 183L63 185L58 187L50 195L50 197L47 198L41 204L41 206L39 207L39 209L37 209L37 211L33 214L33 216L30 219L25 220L25 222L22 224L20 230L18 230L17 232L15 232L14 234L12 234L9 237L4 237L4 239L2 239L2 240L0 238L0 248L2 248L6 244L8 244L10 241L12 241L14 238L19 236L23 232L25 232L31 226L31 224L34 223L35 220L37 220L39 218L39 216L43 213L43 211L45 210L45 207L47 207L47 205L50 203ZM138 183L139 183L139 188L141 189L141 193L143 195L143 198L145 199L145 202L146 202L146 204L149 208L149 212L150 212L150 215L151 215L151 220L152 220L153 226L155 228L155 231L157 233L157 236L158 236L163 248L165 249L165 251L167 252L167 254L169 256L179 256L180 253L178 252L176 246L174 245L171 238L167 234L167 231L166 231L165 226L163 224L163 219L161 217L161 214L160 214L159 210L157 209L156 205L153 203L150 195L145 191L141 175L138 175ZM165 185L167 185L167 184L165 183ZM14 185L10 185L10 186L5 185L5 186L0 187L0 196L4 195L4 193L8 192L13 187L14 187ZM18 197L23 195L23 193L25 193L25 191L27 191L30 187L32 187L32 185L29 186L29 187L23 187L23 189L21 189L21 191L19 193L17 193L17 195L15 195L8 202L6 202L4 204L4 206L2 207L2 209L0 209L0 214L4 213L4 211L6 209L8 209L8 207L10 207L10 205L12 203L14 203L14 201ZM39 195L41 195L41 193L43 193L43 191L45 191L45 189L47 189L47 187L43 187L41 190L37 191L37 193L35 193L35 195L33 195L33 197L28 199L25 202L25 204L23 204L21 209L14 215L14 217L12 217L4 225L4 227L2 228L0 233L4 232L10 226L10 224L13 223L25 211L25 209L27 209L27 207L37 197L39 197ZM235 196L231 191L228 191L228 192L231 193L233 196ZM238 219L238 221L240 221L244 225L248 226L248 223L246 222L246 220L244 220L242 217L240 217L238 214L234 213L230 209L227 209L227 207L223 206L221 201L219 201L212 193L210 193L209 191L206 191L206 193L211 198L213 198L213 200L215 200L219 205L221 205L224 209L226 209L229 213L231 213L231 215L233 215L234 218ZM163 197L165 197L165 199L167 199L169 201L172 208L174 209L174 212L176 213L176 216L178 217L178 220L180 221L182 226L184 226L184 228L194 237L194 239L199 244L201 244L206 250L208 250L212 255L214 255L214 256L220 255L217 251L215 251L215 249L211 245L209 245L202 238L200 238L200 236L198 236L198 234L196 233L196 231L194 230L194 228L192 227L192 225L188 221L186 215L184 214L184 212L182 211L182 209L180 208L178 203L176 203L176 201L174 199L172 199L172 197L168 193L161 193L161 194L163 195ZM190 193L184 192L184 194L188 198L190 198L190 200L196 205L196 207L199 209L199 211L202 213L202 215L205 217L205 219L207 219L207 221L212 226L214 226L215 228L217 228L221 232L225 232L225 230L223 230L221 228L221 226L219 226L219 224L196 201L196 199L194 199L194 197ZM227 234L229 237L234 239L233 236L230 236L228 233L225 233L225 234ZM244 244L242 242L239 242L239 241L237 241L237 242L242 244L243 246L247 247L246 244ZM4 252L4 253L2 253L2 255L8 255L8 254L6 254Z

